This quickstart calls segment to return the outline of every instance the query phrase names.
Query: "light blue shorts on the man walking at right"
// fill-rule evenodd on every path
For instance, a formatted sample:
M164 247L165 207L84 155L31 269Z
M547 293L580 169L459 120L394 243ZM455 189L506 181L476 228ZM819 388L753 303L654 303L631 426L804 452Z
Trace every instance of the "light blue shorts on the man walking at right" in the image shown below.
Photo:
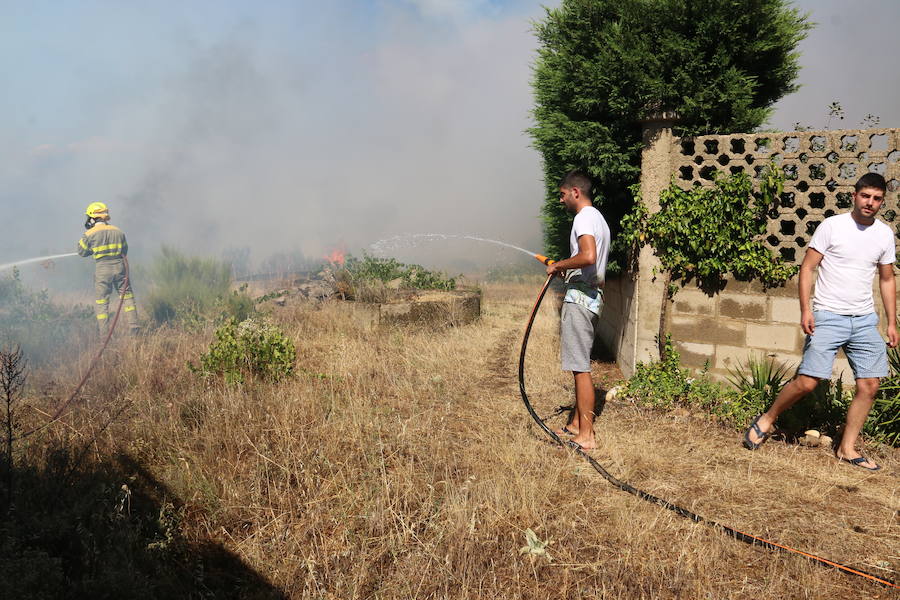
M806 336L797 373L831 379L834 356L843 347L856 379L887 377L887 344L878 333L878 315L838 315L814 310L813 318L816 328Z

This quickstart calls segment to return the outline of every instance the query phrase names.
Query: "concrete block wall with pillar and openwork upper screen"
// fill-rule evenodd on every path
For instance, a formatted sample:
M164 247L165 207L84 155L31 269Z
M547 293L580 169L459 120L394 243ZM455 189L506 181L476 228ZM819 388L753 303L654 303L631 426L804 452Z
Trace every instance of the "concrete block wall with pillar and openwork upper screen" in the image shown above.
M900 238L900 130L735 134L684 140L672 135L675 119L674 114L659 113L644 122L641 195L650 212L659 209L659 195L673 180L708 185L712 181L708 171L725 170L724 165L732 173L743 170L758 175L761 165L771 159L784 170L787 181L779 214L769 224L765 241L783 258L802 261L814 226L821 218L847 209L847 190L852 190L855 178L865 170L882 172L889 180L882 216L896 227ZM599 337L615 353L626 377L637 363L659 357L655 339L664 282L657 275L658 267L652 250L644 247L636 272L610 278L606 284ZM873 290L883 323L874 282ZM682 289L669 307L668 332L684 366L708 366L718 378L746 364L751 354L796 367L805 340L797 280L773 289L732 280L712 296L697 288ZM838 376L852 382L842 352L835 361L834 377Z

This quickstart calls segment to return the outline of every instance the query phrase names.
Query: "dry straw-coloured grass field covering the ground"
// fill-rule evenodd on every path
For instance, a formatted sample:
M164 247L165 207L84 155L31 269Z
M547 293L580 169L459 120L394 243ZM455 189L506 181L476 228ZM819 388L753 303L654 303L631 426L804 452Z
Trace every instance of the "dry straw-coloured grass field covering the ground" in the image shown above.
M230 557L202 576L231 578L236 598L896 597L693 524L546 443L516 380L539 286L487 285L480 321L442 330L369 331L339 302L272 307L298 353L296 376L279 384L225 387L190 373L210 332L123 340L43 439L96 438L86 460L123 465L129 510L157 502L173 536ZM526 367L542 415L572 400L553 303ZM89 358L32 373L30 404L58 402ZM596 365L603 387L619 376ZM875 455L875 474L824 449L771 441L751 453L701 415L621 398L604 406L597 433L592 456L623 481L900 579L896 451ZM527 529L549 556L520 553Z

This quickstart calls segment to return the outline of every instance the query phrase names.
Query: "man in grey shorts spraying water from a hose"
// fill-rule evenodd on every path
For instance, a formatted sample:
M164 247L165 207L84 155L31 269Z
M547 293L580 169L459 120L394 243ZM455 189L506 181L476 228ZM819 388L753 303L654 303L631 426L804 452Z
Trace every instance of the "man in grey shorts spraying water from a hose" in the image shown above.
M575 410L557 433L575 436L583 450L597 447L594 438L594 383L591 347L603 309L603 282L609 256L609 226L594 208L590 177L571 171L559 184L559 201L575 213L569 236L571 256L547 267L548 275L565 273L566 295L560 314L562 368L575 378Z

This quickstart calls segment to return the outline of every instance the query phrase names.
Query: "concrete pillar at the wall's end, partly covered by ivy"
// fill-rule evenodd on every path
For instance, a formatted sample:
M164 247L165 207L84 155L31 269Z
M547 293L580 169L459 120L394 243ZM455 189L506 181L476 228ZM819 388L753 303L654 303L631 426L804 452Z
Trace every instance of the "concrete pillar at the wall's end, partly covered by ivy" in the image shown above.
M659 112L644 119L644 149L641 152L641 197L647 210L659 210L660 193L669 187L672 178L672 145L675 141L672 126L677 117L674 112ZM659 319L665 293L665 276L654 275L659 270L659 259L649 246L641 248L638 258L638 272L634 297L631 302L628 323L629 333L634 343L631 356L619 356L619 367L626 377L634 372L638 362L649 362L659 358L656 336L659 333Z

